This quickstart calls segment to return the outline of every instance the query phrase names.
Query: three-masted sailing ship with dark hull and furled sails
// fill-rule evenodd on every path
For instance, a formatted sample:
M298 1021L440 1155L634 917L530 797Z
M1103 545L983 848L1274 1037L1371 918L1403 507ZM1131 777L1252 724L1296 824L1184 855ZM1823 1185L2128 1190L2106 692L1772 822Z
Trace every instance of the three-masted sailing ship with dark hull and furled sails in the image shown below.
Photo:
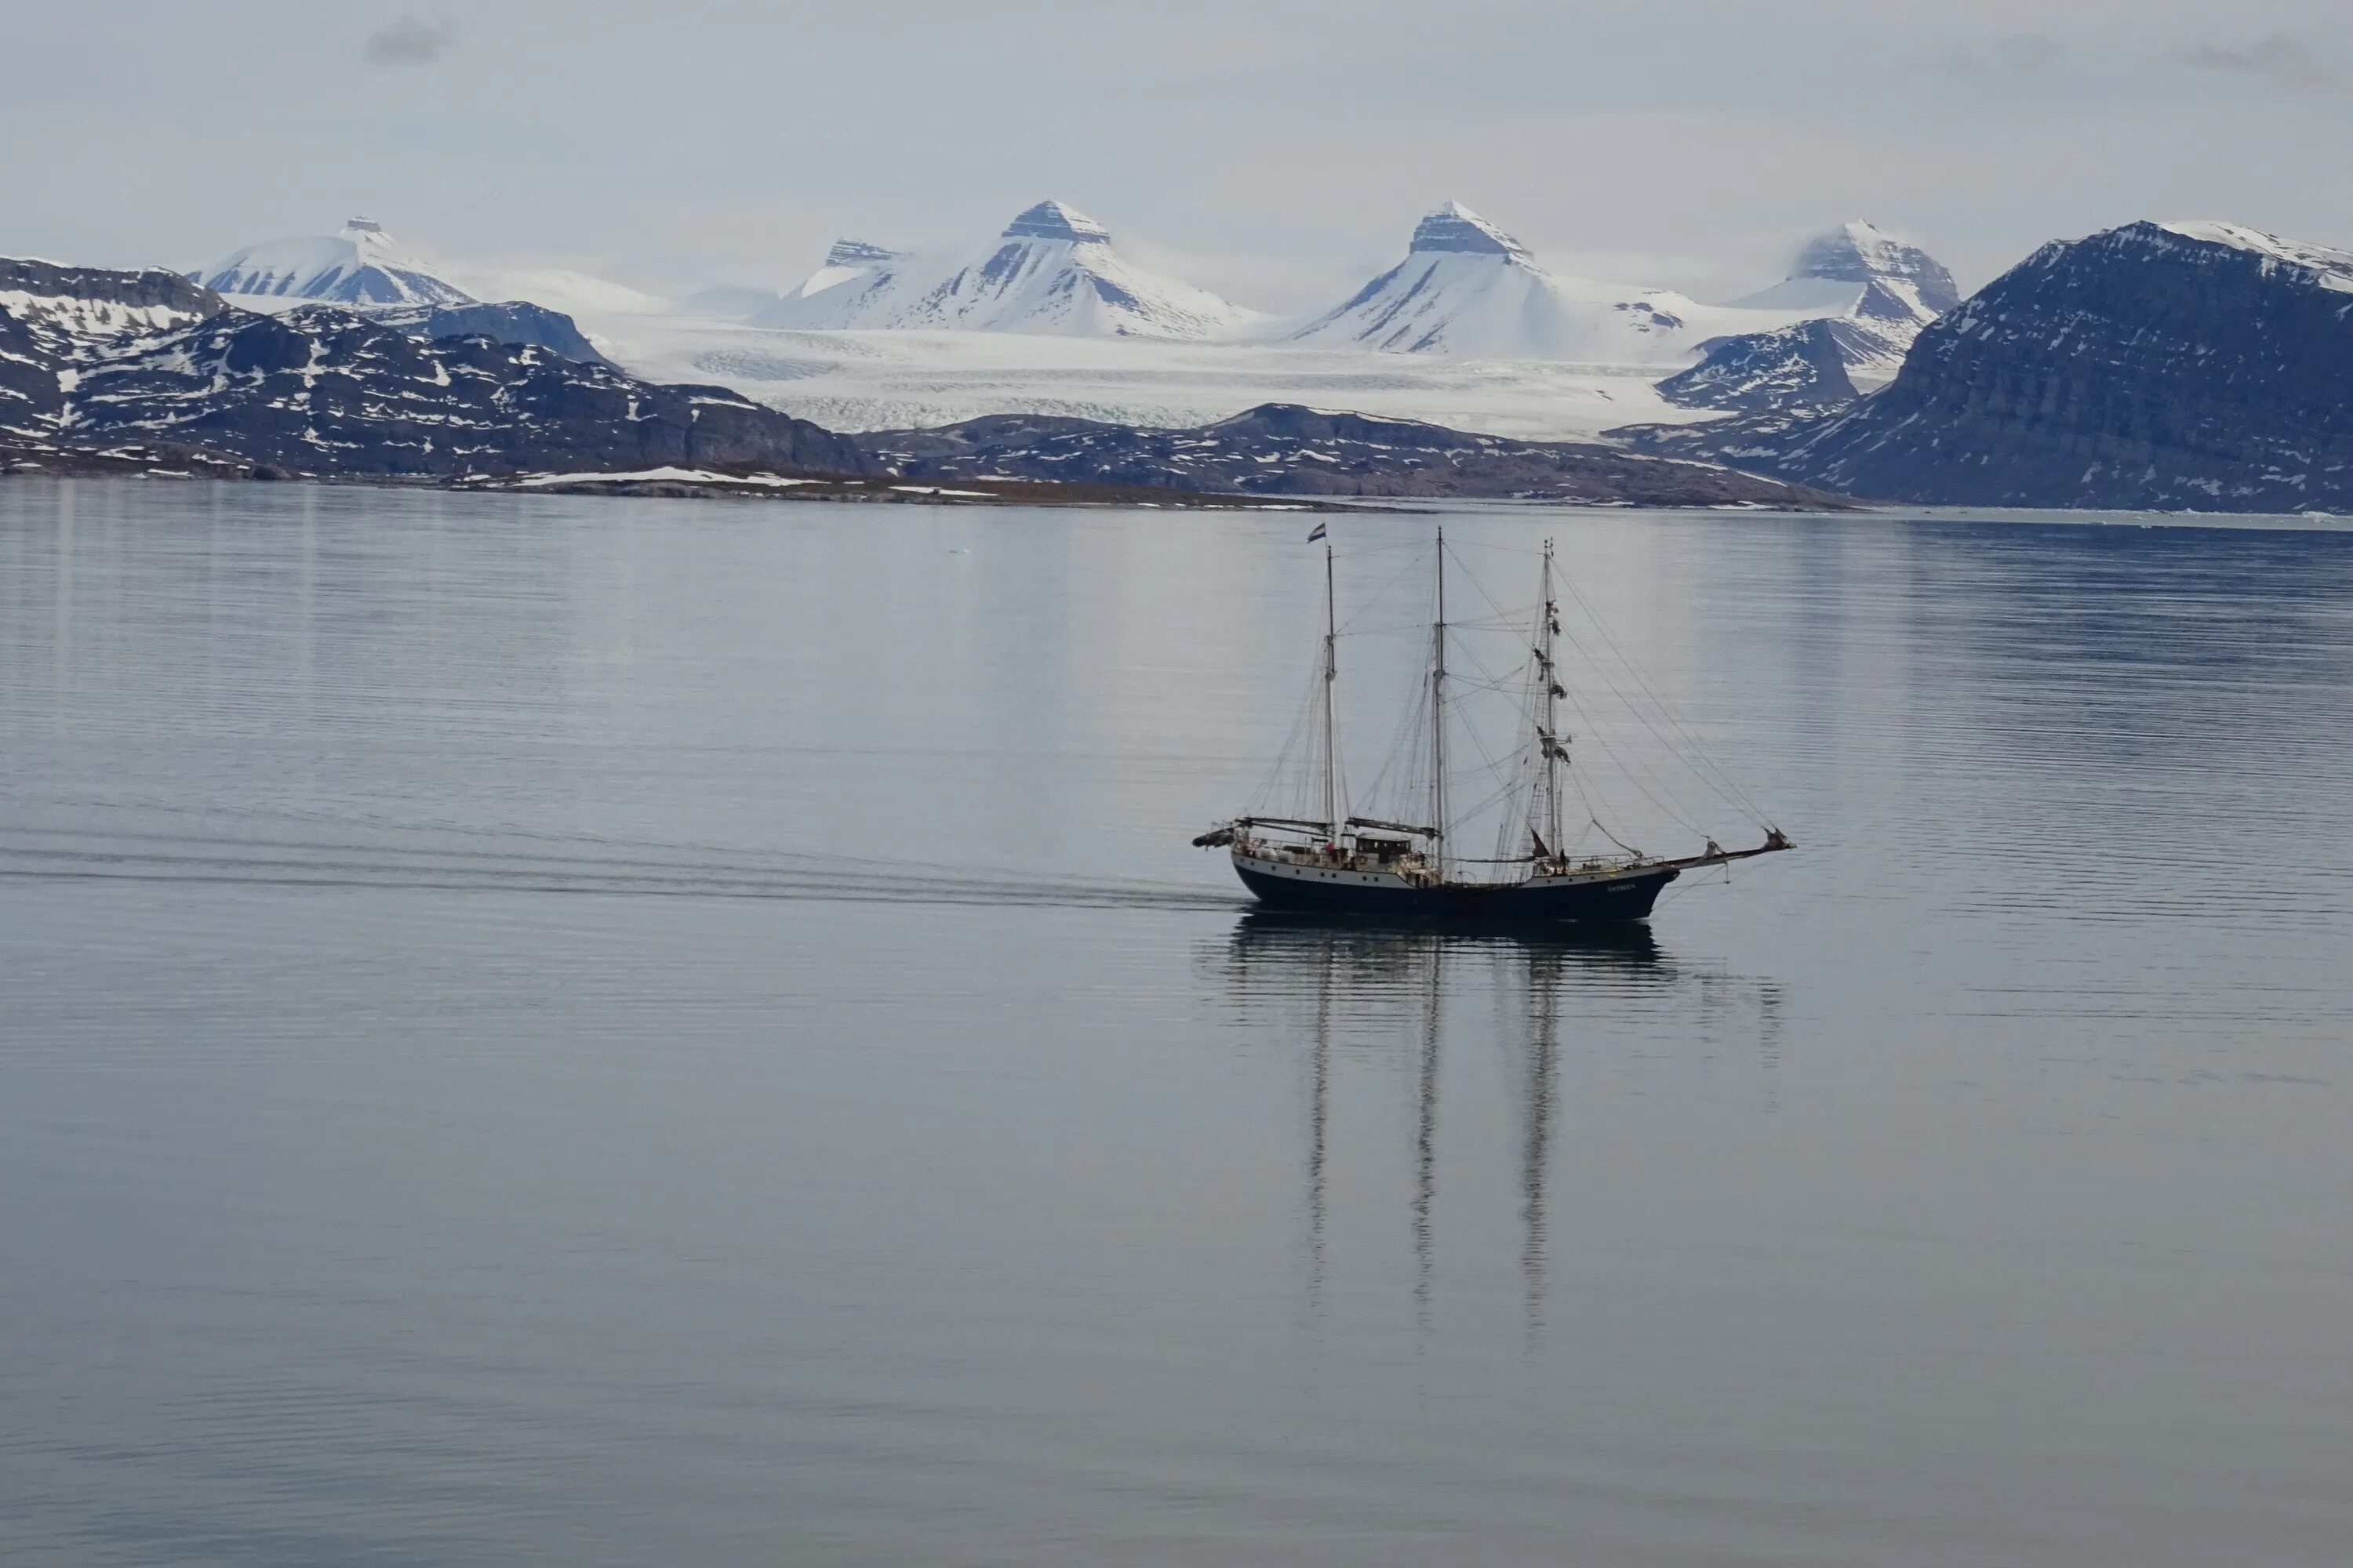
M1268 907L1459 924L1640 922L1649 917L1666 884L1685 872L1791 849L1788 835L1755 813L1753 806L1741 804L1741 811L1765 832L1765 839L1753 849L1725 849L1713 837L1694 835L1704 842L1697 853L1652 856L1602 827L1591 802L1586 832L1579 832L1579 839L1598 832L1609 849L1579 853L1581 844L1572 846L1565 797L1572 736L1560 724L1560 703L1569 698L1569 686L1562 684L1558 661L1562 625L1555 597L1555 588L1562 583L1555 574L1553 541L1546 541L1534 632L1527 637L1525 654L1522 733L1515 750L1506 752L1525 783L1506 783L1501 792L1504 820L1497 853L1466 856L1457 851L1464 820L1454 816L1447 755L1449 710L1457 703L1457 691L1447 670L1452 628L1447 623L1445 529L1438 529L1435 550L1438 611L1431 621L1428 661L1409 722L1409 745L1419 752L1409 773L1421 785L1414 795L1424 820L1351 813L1339 757L1341 625L1334 555L1327 529L1318 527L1308 538L1311 543L1325 538L1322 661L1306 719L1311 745L1306 773L1315 788L1313 802L1294 816L1252 811L1193 839L1200 849L1228 849L1242 886ZM1602 635L1607 637L1607 632ZM1487 691L1497 686L1489 679L1473 684ZM1661 731L1668 755L1680 757L1725 799L1746 799L1729 785L1722 769L1697 752L1687 726L1671 722L1671 729L1680 736ZM1294 743L1297 738L1299 731L1294 731ZM1285 748L1285 759L1275 764L1278 778L1287 771L1292 750ZM1579 797L1586 799L1584 790Z

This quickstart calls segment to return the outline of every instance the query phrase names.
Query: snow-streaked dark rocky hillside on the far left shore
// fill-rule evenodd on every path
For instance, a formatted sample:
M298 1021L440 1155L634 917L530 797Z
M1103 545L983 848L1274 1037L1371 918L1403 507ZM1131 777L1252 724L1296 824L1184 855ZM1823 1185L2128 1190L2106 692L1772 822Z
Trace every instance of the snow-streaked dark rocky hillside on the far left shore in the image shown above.
M320 477L873 473L856 442L725 388L341 306L256 315L172 273L0 263L0 447L49 468L127 451Z

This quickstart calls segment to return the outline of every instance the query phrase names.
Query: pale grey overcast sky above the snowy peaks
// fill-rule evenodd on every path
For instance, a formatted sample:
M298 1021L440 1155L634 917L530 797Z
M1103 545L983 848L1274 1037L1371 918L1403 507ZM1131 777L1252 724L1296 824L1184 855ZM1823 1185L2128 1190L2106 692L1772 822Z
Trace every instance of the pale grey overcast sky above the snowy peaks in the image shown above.
M1701 299L1852 216L1962 287L2144 216L2353 247L2341 0L0 0L0 254L56 261L367 214L675 294L1047 195L1271 310L1449 197Z

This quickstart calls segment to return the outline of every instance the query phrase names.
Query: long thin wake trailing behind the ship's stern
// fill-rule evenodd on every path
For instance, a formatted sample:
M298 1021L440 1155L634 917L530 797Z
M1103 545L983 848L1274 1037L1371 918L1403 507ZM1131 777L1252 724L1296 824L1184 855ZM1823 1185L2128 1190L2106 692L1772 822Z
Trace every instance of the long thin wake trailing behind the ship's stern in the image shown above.
M466 842L386 842L405 837ZM1184 884L456 825L264 837L0 823L0 879L1120 910L1242 903Z

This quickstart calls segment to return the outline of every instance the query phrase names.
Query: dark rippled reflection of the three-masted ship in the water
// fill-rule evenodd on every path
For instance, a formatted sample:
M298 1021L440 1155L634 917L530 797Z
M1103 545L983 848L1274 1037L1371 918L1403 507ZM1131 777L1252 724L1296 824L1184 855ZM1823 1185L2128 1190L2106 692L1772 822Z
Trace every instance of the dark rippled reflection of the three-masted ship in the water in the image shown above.
M1779 985L1678 961L1647 924L1440 931L1252 910L1212 961L1238 1016L1280 1018L1278 1039L1299 1044L1311 1324L1327 1319L1334 1208L1362 1206L1360 1190L1334 1173L1337 1140L1362 1145L1351 1178L1391 1190L1405 1145L1417 1349L1435 1324L1440 1168L1459 1166L1487 1187L1487 1213L1464 1215L1466 1229L1487 1237L1492 1206L1513 1206L1520 1319L1534 1354L1562 1124L1638 1093L1645 1065L1734 1065L1753 1079L1755 1110L1779 1105ZM1407 1117L1393 1140L1398 1100Z

